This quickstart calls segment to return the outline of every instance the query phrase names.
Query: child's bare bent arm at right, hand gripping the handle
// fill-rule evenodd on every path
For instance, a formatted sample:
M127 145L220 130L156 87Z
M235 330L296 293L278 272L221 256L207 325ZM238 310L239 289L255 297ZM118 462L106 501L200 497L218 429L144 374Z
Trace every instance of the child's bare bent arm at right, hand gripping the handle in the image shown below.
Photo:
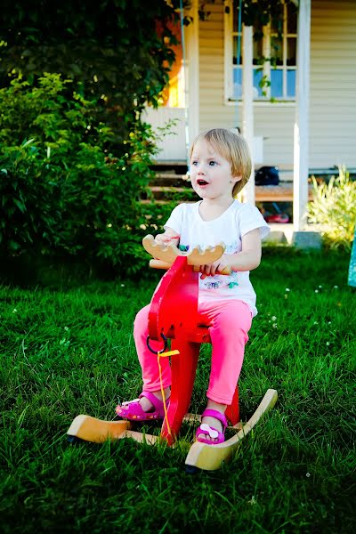
M206 276L214 276L223 271L225 267L230 267L231 271L252 271L261 262L262 246L260 231L258 228L247 232L242 238L242 250L236 254L224 254L214 263L202 265L202 279Z

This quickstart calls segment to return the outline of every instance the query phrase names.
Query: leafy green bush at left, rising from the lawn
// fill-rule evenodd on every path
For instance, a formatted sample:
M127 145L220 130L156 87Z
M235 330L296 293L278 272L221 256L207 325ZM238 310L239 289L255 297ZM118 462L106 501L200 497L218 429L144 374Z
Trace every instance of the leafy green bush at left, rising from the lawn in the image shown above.
M3 256L76 255L129 273L147 263L142 236L155 231L158 208L140 198L152 179L154 136L138 120L110 154L112 132L93 109L59 74L0 91Z

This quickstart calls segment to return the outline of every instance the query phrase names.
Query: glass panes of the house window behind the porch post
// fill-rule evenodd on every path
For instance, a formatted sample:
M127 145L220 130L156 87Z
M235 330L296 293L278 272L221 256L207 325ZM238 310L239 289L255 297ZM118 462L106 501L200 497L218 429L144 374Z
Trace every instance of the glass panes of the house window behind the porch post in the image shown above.
M227 100L242 95L242 29L239 32L239 0L230 3L225 15L225 85ZM283 6L281 32L270 23L254 27L254 99L260 101L294 101L296 71L297 8ZM238 57L239 56L239 57Z

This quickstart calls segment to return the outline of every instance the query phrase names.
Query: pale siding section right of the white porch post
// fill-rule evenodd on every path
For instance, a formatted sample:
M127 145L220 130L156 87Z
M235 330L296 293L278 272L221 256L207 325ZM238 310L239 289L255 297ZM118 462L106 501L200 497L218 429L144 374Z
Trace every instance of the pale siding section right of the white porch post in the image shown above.
M356 2L312 0L311 166L356 166Z

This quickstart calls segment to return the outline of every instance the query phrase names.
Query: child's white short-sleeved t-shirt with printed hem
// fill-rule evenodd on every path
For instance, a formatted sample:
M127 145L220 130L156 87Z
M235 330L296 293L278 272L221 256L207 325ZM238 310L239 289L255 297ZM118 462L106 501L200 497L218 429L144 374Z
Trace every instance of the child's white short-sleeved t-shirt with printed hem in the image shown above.
M214 247L223 243L225 254L241 251L242 237L247 232L260 229L261 239L268 235L270 227L255 206L234 200L231 206L214 221L203 221L199 214L200 202L180 204L174 207L164 228L171 228L179 236L179 247L189 251L194 247ZM199 302L237 299L248 304L256 315L255 291L249 279L249 271L233 271L231 275L215 274L201 279L199 275Z

